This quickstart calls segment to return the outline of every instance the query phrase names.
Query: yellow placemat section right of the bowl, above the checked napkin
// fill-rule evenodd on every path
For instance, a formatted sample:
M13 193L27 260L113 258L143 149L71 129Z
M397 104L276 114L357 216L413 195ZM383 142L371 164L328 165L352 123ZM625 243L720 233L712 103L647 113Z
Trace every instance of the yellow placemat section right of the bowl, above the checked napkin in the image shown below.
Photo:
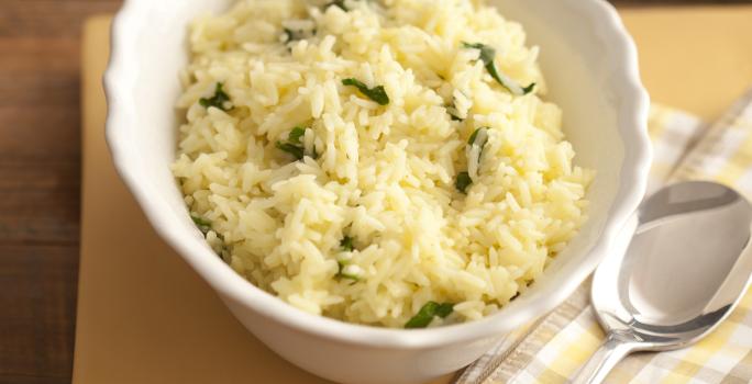
M715 121L752 83L752 5L621 12L654 101Z

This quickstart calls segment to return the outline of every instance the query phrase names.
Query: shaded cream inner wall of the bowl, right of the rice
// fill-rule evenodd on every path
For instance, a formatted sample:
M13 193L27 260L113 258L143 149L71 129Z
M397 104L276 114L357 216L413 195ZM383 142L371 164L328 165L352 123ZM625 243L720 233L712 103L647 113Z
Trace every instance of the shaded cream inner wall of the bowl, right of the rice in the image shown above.
M587 194L588 222L546 268L544 273L552 275L565 266L580 263L600 236L618 196L624 138L629 136L624 129L642 127L619 121L620 114L629 113L618 95L624 63L615 63L618 55L607 54L612 49L612 36L595 33L600 31L597 24L602 20L594 20L571 1L557 2L557 7L545 0L491 3L524 26L529 44L541 47L540 65L549 87L545 99L564 111L563 128L577 154L575 163L597 172ZM546 279L539 281L535 289ZM538 290L531 291L528 295Z

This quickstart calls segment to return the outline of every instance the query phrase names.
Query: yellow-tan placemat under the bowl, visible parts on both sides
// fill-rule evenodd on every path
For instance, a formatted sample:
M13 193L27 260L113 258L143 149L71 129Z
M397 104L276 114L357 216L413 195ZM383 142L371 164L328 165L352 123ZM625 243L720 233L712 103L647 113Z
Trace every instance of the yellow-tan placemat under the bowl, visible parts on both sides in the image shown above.
M752 86L752 7L622 12L654 100L712 118ZM84 185L74 383L325 383L274 355L157 238L103 140L109 19L84 42ZM445 383L449 377L438 381Z

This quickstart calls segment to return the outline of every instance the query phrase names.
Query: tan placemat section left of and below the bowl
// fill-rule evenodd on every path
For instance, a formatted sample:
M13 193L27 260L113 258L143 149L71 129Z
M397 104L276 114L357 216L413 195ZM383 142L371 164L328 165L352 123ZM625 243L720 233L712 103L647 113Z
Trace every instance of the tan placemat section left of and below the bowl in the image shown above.
M327 383L277 358L147 224L104 144L109 18L84 37L84 185L74 383Z

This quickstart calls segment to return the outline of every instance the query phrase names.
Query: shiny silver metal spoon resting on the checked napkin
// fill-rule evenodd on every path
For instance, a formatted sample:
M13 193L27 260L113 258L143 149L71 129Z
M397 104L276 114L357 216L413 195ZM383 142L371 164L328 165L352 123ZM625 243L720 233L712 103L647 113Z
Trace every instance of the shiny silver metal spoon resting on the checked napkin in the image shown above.
M574 383L602 382L633 351L683 348L710 334L750 283L751 228L752 206L720 184L678 183L646 200L624 229L631 242L593 279L608 337Z

